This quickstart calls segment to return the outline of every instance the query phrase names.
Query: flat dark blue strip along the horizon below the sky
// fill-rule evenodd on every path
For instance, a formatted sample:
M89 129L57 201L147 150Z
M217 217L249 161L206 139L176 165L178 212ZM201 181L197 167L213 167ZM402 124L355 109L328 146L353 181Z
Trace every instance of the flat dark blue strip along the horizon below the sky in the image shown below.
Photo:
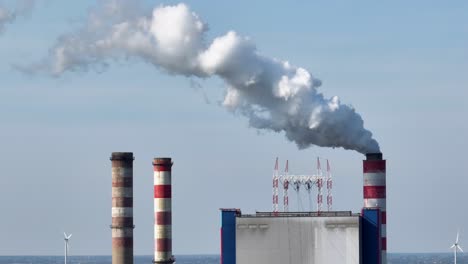
M152 256L135 256L135 264L151 264ZM217 255L176 256L177 264L219 264ZM63 256L0 256L0 264L62 264ZM70 256L69 264L110 264L110 256ZM450 253L389 254L388 264L452 264ZM468 264L468 254L460 254L458 264Z

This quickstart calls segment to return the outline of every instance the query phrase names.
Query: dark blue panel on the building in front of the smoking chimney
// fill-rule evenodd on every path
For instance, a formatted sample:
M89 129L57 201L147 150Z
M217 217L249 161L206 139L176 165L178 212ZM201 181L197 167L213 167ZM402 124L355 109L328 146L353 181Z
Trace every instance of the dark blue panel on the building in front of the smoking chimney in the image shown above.
M363 209L361 218L362 264L380 263L380 210Z

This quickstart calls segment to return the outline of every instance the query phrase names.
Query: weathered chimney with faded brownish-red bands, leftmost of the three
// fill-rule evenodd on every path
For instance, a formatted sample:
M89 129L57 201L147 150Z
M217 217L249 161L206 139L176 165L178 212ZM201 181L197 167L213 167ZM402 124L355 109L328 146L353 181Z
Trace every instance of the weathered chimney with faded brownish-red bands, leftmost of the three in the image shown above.
M113 152L112 264L133 264L133 153Z

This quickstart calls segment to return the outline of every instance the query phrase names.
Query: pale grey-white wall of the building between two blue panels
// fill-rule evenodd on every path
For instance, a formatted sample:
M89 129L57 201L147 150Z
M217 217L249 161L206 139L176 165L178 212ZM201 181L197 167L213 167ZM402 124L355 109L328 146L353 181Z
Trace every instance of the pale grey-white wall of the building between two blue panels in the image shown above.
M359 264L359 217L241 217L236 264Z

